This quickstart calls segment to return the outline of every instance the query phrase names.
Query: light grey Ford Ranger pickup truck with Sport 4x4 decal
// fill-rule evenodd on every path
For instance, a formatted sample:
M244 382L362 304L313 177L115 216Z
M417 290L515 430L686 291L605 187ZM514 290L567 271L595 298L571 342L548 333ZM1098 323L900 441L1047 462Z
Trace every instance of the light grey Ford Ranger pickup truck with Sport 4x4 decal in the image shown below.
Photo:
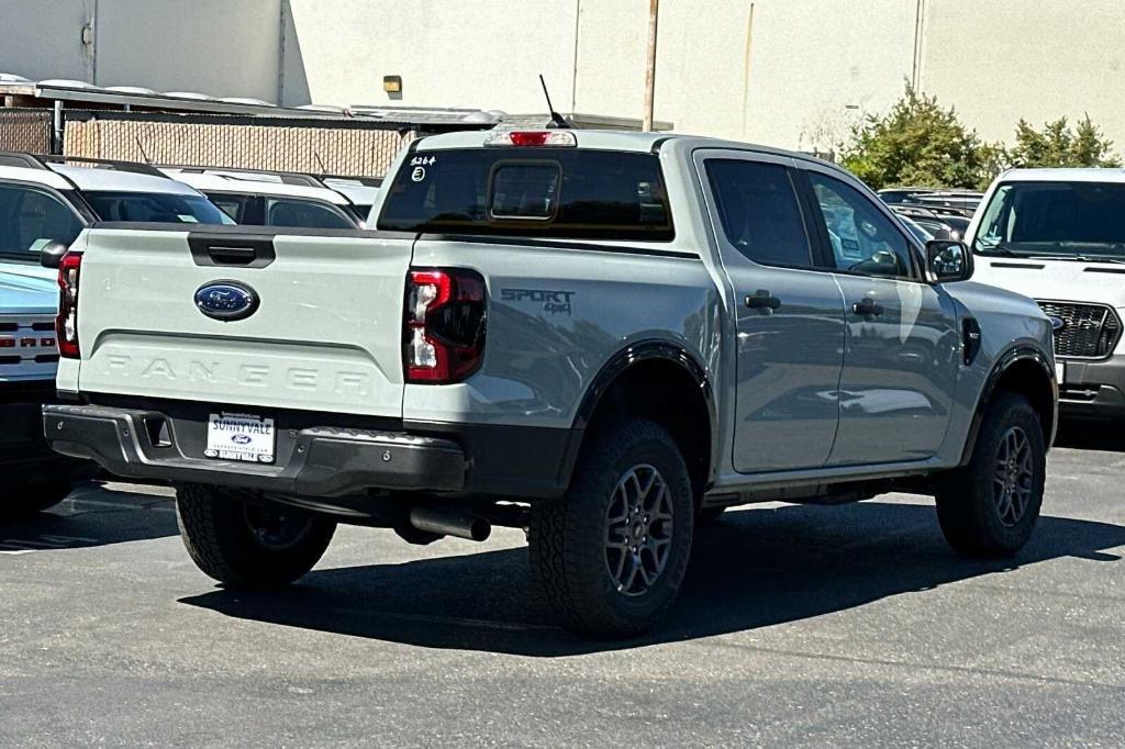
M845 171L507 130L414 141L390 174L374 235L93 228L63 259L48 439L176 482L215 579L288 584L341 522L525 527L560 621L622 635L732 505L908 490L962 553L1029 538L1046 316Z

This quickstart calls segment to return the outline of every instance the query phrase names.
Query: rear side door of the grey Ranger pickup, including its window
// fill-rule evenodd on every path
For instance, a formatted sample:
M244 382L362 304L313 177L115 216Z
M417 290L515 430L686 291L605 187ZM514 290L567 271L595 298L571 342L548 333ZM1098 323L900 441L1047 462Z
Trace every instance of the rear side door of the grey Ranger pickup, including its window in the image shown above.
M793 181L793 161L701 151L695 162L734 287L734 467L819 468L839 418L844 300L817 260L811 207Z

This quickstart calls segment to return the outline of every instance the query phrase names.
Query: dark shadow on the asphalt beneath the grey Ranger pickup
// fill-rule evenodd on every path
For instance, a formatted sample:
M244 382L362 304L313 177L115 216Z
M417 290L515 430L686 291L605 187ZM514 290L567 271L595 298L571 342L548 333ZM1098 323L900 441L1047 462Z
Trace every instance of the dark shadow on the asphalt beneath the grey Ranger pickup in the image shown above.
M696 533L665 623L626 641L557 626L525 548L399 565L314 570L276 594L227 589L181 599L227 616L429 648L560 657L782 624L1063 557L1119 561L1125 527L1042 517L1014 559L972 561L945 545L934 508L862 503L730 512Z

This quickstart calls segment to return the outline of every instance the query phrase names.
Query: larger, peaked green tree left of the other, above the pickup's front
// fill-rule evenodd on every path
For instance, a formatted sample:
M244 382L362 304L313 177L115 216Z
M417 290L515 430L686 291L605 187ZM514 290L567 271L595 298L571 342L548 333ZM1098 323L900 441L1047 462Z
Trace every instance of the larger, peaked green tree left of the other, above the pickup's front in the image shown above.
M956 111L907 83L885 115L868 115L842 147L844 166L874 189L926 186L978 189L996 173L998 148L982 143Z

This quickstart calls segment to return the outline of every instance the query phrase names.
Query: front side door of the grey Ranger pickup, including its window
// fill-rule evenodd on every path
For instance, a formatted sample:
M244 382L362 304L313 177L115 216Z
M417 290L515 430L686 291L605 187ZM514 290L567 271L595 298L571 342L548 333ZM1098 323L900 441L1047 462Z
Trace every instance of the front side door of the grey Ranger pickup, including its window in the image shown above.
M829 466L933 457L960 366L953 300L925 282L899 223L835 170L808 165L807 190L844 292L847 350Z

